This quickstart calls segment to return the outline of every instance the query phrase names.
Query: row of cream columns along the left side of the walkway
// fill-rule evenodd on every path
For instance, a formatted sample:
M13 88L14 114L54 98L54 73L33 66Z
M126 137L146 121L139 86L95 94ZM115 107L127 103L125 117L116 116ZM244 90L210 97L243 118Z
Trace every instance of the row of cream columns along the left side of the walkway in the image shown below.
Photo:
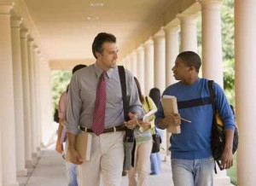
M26 26L20 29L22 18L10 15L14 6L0 1L0 185L18 185L16 176L26 176L26 168L36 163L42 142L40 92L50 92L50 87L40 89L48 64Z

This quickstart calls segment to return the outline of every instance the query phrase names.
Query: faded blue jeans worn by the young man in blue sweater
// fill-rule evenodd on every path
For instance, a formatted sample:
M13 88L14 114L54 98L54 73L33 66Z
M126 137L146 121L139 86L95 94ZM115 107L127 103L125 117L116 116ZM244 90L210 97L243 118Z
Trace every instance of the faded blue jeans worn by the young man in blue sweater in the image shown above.
M172 159L172 180L175 186L212 186L214 160Z

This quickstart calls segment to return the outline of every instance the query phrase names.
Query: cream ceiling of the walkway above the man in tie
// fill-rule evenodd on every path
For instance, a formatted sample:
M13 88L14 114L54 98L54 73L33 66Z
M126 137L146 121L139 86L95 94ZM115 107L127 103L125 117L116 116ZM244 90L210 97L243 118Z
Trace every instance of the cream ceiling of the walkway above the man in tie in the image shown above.
M195 3L190 0L24 0L49 61L94 61L98 32L118 38L120 56L143 44L161 26Z

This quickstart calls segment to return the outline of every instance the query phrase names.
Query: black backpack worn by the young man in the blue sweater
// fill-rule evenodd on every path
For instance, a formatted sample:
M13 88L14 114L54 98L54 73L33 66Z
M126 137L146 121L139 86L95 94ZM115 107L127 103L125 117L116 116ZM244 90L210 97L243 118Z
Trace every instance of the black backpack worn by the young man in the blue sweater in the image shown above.
M216 96L212 89L212 83L213 83L212 80L208 81L208 87L209 87L209 91L210 91L210 95L211 95L211 99L212 99L212 109L213 109L212 137L211 137L212 157L217 162L218 166L220 166L219 160L221 159L221 155L224 152L225 133L224 133L222 119L220 118L218 110L214 106ZM230 108L235 117L235 112L234 112L233 106L230 105ZM237 127L236 127L235 132L234 132L234 139L233 139L233 149L232 149L233 154L236 153L237 148L238 148L238 131L237 131Z

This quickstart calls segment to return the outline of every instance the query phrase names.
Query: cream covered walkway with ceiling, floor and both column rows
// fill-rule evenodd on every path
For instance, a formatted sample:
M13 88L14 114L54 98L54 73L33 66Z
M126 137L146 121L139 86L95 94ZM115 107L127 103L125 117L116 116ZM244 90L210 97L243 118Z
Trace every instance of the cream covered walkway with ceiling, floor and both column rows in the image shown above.
M27 185L63 185L61 159L44 149L55 132L50 73L95 62L91 43L98 32L118 38L119 64L137 76L148 95L153 87L165 90L176 82L171 69L179 52L199 50L195 20L201 15L202 77L223 86L221 3L0 0L0 186L18 186L26 177ZM254 186L256 1L234 3L237 179L239 186ZM169 134L165 135L163 146L168 147ZM168 160L170 154L163 155ZM150 177L150 184L168 185L160 183L171 180L168 171L167 163L160 178ZM221 171L214 180L223 186L230 177Z

